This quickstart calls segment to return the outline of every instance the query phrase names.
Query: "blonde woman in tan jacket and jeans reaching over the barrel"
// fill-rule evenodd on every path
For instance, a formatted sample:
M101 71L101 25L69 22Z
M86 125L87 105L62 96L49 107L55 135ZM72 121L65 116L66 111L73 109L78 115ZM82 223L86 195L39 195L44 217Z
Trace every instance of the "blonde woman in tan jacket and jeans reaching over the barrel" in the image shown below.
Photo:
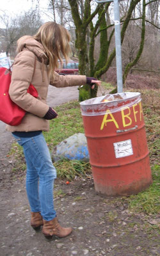
M68 236L72 228L58 223L53 204L53 183L56 170L52 165L49 149L42 131L49 131L49 120L57 113L46 103L49 84L56 87L100 84L93 77L60 76L58 68L61 56L68 59L70 34L56 22L46 22L35 36L22 36L17 42L17 56L13 65L10 97L26 111L20 125L8 125L17 142L23 147L26 158L26 191L31 207L31 227L42 232L47 239L52 236ZM33 84L38 98L27 90Z

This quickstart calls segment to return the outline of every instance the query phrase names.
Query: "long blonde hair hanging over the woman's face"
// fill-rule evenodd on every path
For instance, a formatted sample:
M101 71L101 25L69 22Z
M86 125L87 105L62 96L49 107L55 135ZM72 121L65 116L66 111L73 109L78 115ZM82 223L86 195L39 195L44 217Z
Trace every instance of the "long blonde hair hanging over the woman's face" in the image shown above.
M58 60L60 60L61 66L63 63L62 56L66 61L68 60L70 33L56 22L46 22L33 37L43 45L49 58L49 74L54 77L54 70L59 67Z

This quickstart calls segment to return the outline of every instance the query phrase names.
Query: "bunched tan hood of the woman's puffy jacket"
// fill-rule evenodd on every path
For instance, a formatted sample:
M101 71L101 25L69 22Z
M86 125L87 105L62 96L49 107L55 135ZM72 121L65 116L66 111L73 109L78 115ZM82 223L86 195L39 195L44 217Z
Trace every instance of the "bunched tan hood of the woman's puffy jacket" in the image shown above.
M45 49L40 42L36 41L33 36L22 36L17 41L17 52L21 52L24 48L28 49L28 51L33 52L41 61L44 60L44 63L48 64L47 54L45 53Z

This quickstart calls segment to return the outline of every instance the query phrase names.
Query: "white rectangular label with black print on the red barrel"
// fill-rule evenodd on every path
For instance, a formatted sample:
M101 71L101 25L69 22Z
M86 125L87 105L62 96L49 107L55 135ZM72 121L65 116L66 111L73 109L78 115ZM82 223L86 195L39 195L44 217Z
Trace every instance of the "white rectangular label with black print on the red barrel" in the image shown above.
M131 156L132 152L132 142L131 140L124 140L113 143L115 149L116 158Z

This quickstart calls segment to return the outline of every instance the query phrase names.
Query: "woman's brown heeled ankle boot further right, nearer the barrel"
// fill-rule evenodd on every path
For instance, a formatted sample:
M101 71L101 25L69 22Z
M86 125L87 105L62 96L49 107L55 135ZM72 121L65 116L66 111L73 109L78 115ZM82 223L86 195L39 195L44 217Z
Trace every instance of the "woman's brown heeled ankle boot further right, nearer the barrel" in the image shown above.
M42 233L48 240L51 240L52 236L65 237L72 232L72 228L61 227L60 223L58 223L57 218L54 218L53 220L50 221L43 221L44 226L42 228Z

